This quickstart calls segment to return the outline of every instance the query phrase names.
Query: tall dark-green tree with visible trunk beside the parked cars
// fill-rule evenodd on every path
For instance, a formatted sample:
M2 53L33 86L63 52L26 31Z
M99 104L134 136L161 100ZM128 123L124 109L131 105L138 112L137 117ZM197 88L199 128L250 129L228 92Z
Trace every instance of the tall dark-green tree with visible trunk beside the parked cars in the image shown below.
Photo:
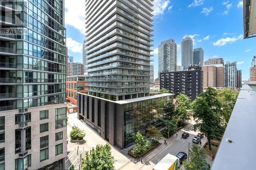
M220 137L224 128L221 126L220 115L222 113L221 103L217 99L217 91L211 87L200 94L193 102L193 116L196 119L194 129L200 130L208 139L209 150L211 151L211 139Z

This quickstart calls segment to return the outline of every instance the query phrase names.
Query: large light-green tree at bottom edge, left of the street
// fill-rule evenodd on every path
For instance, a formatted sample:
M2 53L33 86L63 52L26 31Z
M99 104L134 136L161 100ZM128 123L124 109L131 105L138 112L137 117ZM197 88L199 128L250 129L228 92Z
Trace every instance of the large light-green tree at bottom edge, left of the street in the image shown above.
M111 147L109 144L96 145L91 150L91 154L86 152L86 156L82 160L83 170L112 170L114 169L114 156L111 155Z

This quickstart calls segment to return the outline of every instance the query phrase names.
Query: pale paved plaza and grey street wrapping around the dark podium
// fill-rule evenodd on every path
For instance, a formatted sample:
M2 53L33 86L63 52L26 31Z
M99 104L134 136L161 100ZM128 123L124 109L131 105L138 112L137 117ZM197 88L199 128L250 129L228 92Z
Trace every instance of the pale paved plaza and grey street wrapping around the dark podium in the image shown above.
M84 130L86 132L86 137L84 139L86 140L85 143L78 144L78 143L71 143L68 142L68 151L69 156L67 159L67 164L71 165L73 164L79 164L80 158L79 154L82 155L89 151L92 147L96 147L96 144L106 144L107 142L103 140L100 136L98 136L91 128L89 128L85 123L81 122L77 119L77 113L69 114L69 120L68 120L68 134L70 133L72 126L77 126L80 129ZM153 166L161 160L167 153L170 153L172 155L176 155L178 152L182 151L187 153L188 152L188 142L190 143L190 148L194 144L192 142L192 139L194 136L197 135L198 132L194 132L193 130L193 124L189 123L186 125L183 129L179 130L177 132L178 135L173 135L168 139L168 144L164 144L164 139L160 140L160 145L154 149L149 154L145 155L143 157L143 162L134 162L134 160L123 153L125 153L126 150L118 150L114 147L112 147L112 155L114 156L116 162L115 162L115 168L116 169L122 169L122 170L131 170L131 169L143 169L143 170L150 170L153 168ZM181 139L181 134L183 132L188 132L190 135L187 139ZM187 142L186 142L187 141ZM206 138L204 137L202 139L202 145L206 142ZM78 149L78 155L77 153L77 146L79 145ZM207 162L212 165L212 161L209 157L207 157ZM76 166L77 167L77 166Z

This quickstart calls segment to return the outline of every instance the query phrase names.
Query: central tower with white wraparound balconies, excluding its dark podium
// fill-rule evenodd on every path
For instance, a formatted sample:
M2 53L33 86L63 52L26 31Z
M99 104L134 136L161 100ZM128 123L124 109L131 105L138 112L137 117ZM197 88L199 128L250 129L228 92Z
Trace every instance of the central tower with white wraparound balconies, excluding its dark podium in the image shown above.
M149 95L153 0L86 0L90 95L120 101Z

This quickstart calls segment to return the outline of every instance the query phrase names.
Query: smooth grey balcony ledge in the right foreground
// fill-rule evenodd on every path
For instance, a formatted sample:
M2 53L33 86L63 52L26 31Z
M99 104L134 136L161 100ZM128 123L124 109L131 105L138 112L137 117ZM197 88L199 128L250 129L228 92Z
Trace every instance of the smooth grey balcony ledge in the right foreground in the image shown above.
M255 87L249 82L241 88L212 170L255 169Z

